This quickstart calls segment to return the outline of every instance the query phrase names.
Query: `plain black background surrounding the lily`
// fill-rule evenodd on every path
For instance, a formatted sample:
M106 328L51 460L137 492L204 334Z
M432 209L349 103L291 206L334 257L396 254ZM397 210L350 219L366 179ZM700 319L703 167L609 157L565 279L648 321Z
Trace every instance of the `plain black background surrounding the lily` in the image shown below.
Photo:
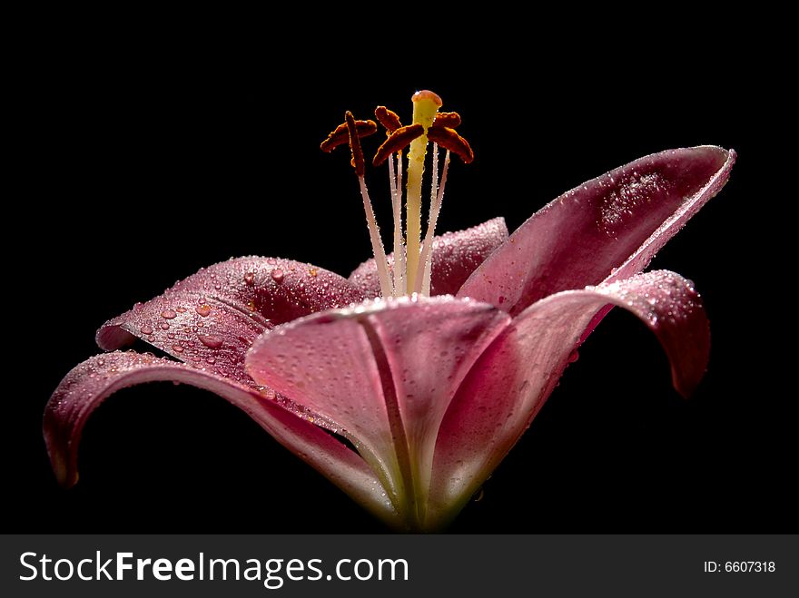
M347 109L367 118L385 103L407 120L411 93L429 88L462 115L477 155L450 170L441 231L495 216L514 230L647 153L711 143L739 154L725 190L651 266L694 279L705 299L713 352L695 396L676 394L656 339L615 310L450 531L795 532L795 397L775 379L769 336L782 320L765 270L784 213L764 181L775 179L787 74L776 49L749 54L740 35L645 38L490 51L477 40L375 65L351 44L302 54L299 41L162 50L146 35L109 44L112 33L48 48L15 90L27 105L24 191L5 221L19 240L6 253L4 527L385 531L210 393L169 383L117 393L84 430L70 491L49 471L41 414L61 377L97 352L96 328L202 266L258 254L346 276L370 253L360 197L344 152L318 144ZM385 179L369 179L384 228Z

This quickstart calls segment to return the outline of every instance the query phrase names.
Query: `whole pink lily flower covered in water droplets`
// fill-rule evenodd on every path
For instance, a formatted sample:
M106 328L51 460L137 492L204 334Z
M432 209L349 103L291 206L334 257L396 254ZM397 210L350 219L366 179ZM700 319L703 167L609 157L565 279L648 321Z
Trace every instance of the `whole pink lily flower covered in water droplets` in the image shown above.
M424 149L411 142L411 158L426 151L434 119L414 138ZM342 131L360 152L367 125L348 121ZM396 261L372 216L376 259L349 279L293 260L239 258L106 322L97 343L110 352L70 371L45 409L59 482L77 481L84 424L106 397L172 380L242 408L391 527L440 529L524 434L613 306L656 334L674 386L688 396L708 360L701 300L674 272L642 272L721 190L735 152L703 146L646 156L567 191L509 237L502 219L433 237L449 152L470 161L454 134L429 135L448 152L439 181L434 145L425 241L412 230L410 162L401 234L402 162L390 148ZM118 350L136 338L171 358Z

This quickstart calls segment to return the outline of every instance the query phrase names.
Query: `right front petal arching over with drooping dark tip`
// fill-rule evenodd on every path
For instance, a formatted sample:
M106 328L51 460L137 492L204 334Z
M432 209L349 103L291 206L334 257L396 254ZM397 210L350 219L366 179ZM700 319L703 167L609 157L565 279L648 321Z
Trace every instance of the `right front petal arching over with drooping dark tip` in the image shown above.
M452 400L436 446L431 516L457 513L498 466L544 404L584 329L611 303L644 321L666 349L676 389L705 373L710 332L692 283L658 270L568 290L523 311L485 351ZM624 376L620 367L617 376Z

